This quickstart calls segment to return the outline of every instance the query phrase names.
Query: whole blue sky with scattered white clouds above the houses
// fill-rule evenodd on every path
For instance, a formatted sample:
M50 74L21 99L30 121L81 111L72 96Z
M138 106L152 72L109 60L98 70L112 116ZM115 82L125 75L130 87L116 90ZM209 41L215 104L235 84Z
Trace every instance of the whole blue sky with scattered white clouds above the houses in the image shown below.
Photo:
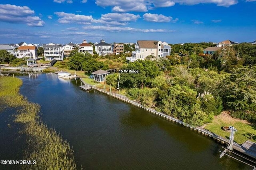
M0 0L0 43L252 42L256 0Z

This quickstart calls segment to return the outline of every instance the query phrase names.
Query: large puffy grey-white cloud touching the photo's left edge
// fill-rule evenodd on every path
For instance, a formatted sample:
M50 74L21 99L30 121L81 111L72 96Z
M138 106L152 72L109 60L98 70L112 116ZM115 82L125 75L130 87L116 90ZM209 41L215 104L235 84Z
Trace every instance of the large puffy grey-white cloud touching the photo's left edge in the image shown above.
M0 21L9 23L22 23L28 26L44 26L38 16L33 16L34 10L27 6L16 6L10 4L0 4Z

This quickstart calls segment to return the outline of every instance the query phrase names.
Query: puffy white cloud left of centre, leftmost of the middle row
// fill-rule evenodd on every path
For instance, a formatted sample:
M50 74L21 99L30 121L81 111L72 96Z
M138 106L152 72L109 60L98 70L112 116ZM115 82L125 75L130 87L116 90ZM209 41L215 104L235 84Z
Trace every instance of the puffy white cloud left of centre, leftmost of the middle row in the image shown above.
M92 16L78 15L78 14L69 14L65 12L54 12L54 14L60 17L58 19L59 23L62 24L70 24L70 23L78 23L78 24L91 24Z

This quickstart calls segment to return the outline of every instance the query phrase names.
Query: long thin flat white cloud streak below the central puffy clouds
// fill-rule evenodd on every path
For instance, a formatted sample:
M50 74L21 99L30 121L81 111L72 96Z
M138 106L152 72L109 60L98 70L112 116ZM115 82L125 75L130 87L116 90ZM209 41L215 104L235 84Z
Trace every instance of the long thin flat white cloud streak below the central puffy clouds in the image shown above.
M173 30L164 29L140 29L131 27L111 27L111 26L84 26L82 27L88 31L108 31L108 32L174 32Z

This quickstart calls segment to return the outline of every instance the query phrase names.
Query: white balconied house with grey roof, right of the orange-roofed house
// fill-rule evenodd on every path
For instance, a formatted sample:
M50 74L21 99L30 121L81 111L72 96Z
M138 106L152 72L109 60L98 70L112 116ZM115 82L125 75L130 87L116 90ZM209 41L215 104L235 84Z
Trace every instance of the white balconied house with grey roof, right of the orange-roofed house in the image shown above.
M48 43L43 46L44 48L44 59L47 61L59 60L62 61L64 52L61 45L55 43Z

